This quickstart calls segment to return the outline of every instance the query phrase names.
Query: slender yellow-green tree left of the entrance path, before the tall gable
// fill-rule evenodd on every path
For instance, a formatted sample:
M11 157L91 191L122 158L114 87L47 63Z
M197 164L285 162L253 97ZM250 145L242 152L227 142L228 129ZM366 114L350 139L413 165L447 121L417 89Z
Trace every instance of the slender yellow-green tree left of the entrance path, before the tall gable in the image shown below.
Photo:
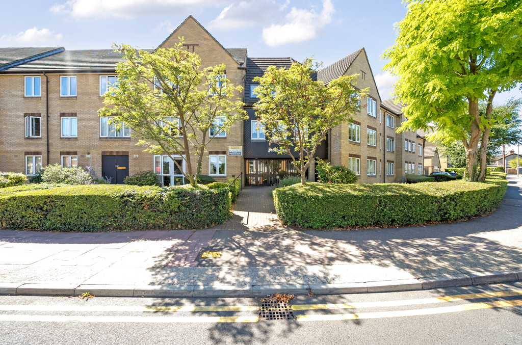
M224 78L223 64L201 68L199 56L182 44L183 39L174 48L153 53L115 46L124 61L117 64L118 85L104 94L99 115L113 116L110 121L116 128L122 122L130 126L138 145L169 156L194 185L208 143L245 118L237 97L243 88ZM183 157L186 171L174 156Z

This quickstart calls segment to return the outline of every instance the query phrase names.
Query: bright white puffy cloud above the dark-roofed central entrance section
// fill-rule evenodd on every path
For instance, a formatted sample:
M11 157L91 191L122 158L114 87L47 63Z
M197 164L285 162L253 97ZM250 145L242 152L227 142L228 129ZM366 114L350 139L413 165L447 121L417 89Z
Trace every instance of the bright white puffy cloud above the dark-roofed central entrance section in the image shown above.
M292 7L282 24L272 24L263 28L263 41L269 46L278 46L316 38L317 32L330 23L331 15L335 12L331 0L322 1L321 13L316 13L314 9Z

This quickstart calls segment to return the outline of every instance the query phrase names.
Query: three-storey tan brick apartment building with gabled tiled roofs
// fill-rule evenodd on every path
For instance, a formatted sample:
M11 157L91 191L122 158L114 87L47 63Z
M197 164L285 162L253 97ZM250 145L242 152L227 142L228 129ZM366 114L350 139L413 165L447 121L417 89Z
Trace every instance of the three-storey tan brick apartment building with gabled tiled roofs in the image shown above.
M226 49L189 16L159 47L173 47L184 37L201 67L226 64L226 77L244 86L248 120L212 139L203 174L225 181L243 173L246 185L266 185L294 169L289 157L269 152L262 126L252 109L255 76L271 65L290 67L290 58L251 58L247 49ZM139 171L153 170L164 185L184 183L167 156L153 156L136 146L132 128L115 130L99 117L101 95L115 80L113 50L65 50L63 47L0 48L0 171L32 175L41 166L92 166L112 183ZM317 72L327 84L341 75L359 74L357 87L369 88L350 123L331 130L316 157L344 164L360 182L402 182L405 173L421 173L423 139L397 134L400 106L381 102L366 52L361 49ZM404 142L404 144L402 144ZM404 145L404 146L403 146ZM180 161L183 159L180 157ZM311 167L309 175L314 176Z

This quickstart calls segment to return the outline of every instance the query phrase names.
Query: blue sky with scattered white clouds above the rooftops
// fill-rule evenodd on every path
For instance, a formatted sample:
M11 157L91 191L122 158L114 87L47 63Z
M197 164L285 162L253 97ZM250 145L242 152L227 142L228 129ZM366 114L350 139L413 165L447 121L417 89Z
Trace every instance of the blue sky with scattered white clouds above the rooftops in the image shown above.
M228 48L251 57L314 56L327 66L364 47L382 99L394 78L382 71L404 18L400 0L53 0L4 2L0 46L110 49L112 43L157 47L193 15ZM518 88L496 103L522 97Z

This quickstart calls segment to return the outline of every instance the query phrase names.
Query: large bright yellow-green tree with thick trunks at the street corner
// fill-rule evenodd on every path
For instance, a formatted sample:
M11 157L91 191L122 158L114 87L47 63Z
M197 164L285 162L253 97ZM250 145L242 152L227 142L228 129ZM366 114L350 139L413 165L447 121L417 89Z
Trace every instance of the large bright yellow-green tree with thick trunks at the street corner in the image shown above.
M407 104L400 130L435 126L432 139L462 141L466 177L485 179L493 99L522 81L522 0L413 0L385 66ZM486 110L479 111L484 101Z

